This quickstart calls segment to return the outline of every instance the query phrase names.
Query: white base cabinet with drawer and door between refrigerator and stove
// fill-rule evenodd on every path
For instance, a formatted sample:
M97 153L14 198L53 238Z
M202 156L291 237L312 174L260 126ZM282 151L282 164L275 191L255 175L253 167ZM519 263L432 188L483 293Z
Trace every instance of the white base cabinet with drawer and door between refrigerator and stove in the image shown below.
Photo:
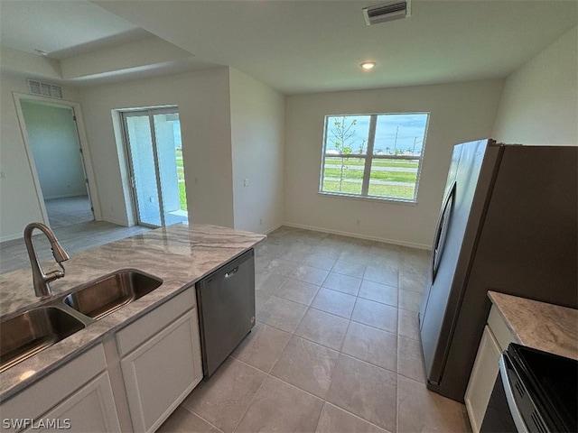
M499 356L510 343L518 343L517 338L509 330L496 307L492 306L465 395L466 410L468 410L473 433L480 431L489 396L498 377Z

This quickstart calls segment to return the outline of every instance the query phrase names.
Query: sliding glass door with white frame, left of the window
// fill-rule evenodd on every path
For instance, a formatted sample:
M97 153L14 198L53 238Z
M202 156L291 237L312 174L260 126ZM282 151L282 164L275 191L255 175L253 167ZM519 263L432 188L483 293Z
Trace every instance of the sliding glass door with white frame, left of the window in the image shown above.
M187 222L181 123L176 107L121 113L125 146L140 226Z

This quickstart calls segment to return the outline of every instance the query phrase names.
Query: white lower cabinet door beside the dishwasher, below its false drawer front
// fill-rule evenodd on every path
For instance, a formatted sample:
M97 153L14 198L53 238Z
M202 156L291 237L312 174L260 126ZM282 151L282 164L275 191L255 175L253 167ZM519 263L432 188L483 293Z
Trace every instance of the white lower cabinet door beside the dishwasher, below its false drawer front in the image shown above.
M135 431L158 428L202 379L196 309L121 359Z

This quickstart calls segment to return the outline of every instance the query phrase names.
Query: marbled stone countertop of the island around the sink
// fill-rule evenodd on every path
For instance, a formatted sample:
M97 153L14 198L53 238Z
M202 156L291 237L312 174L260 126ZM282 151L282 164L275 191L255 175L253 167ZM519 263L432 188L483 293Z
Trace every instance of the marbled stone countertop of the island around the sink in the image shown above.
M265 235L210 225L175 225L135 235L98 248L75 253L63 263L66 276L51 282L54 297L121 269L137 269L163 280L156 290L98 320L76 334L0 373L0 401L80 352L190 287L265 239ZM47 272L55 263L42 263ZM12 316L51 299L34 295L29 268L0 275L0 314Z

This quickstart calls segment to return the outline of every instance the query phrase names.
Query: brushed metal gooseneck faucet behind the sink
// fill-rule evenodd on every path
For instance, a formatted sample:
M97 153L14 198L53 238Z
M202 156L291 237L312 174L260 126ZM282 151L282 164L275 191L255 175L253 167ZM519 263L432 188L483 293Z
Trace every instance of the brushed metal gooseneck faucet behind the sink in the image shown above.
M52 255L54 260L61 267L62 271L51 271L45 274L42 272L42 267L36 256L33 245L33 231L38 228L49 241L51 241ZM33 284L34 293L36 296L42 296L42 298L51 296L52 291L49 286L49 282L62 278L64 276L64 266L62 262L66 262L70 259L69 253L67 253L62 245L56 239L56 236L51 231L50 227L43 225L42 223L31 223L26 228L24 228L24 243L26 244L26 250L28 250L28 256L30 257L30 264L33 267Z

